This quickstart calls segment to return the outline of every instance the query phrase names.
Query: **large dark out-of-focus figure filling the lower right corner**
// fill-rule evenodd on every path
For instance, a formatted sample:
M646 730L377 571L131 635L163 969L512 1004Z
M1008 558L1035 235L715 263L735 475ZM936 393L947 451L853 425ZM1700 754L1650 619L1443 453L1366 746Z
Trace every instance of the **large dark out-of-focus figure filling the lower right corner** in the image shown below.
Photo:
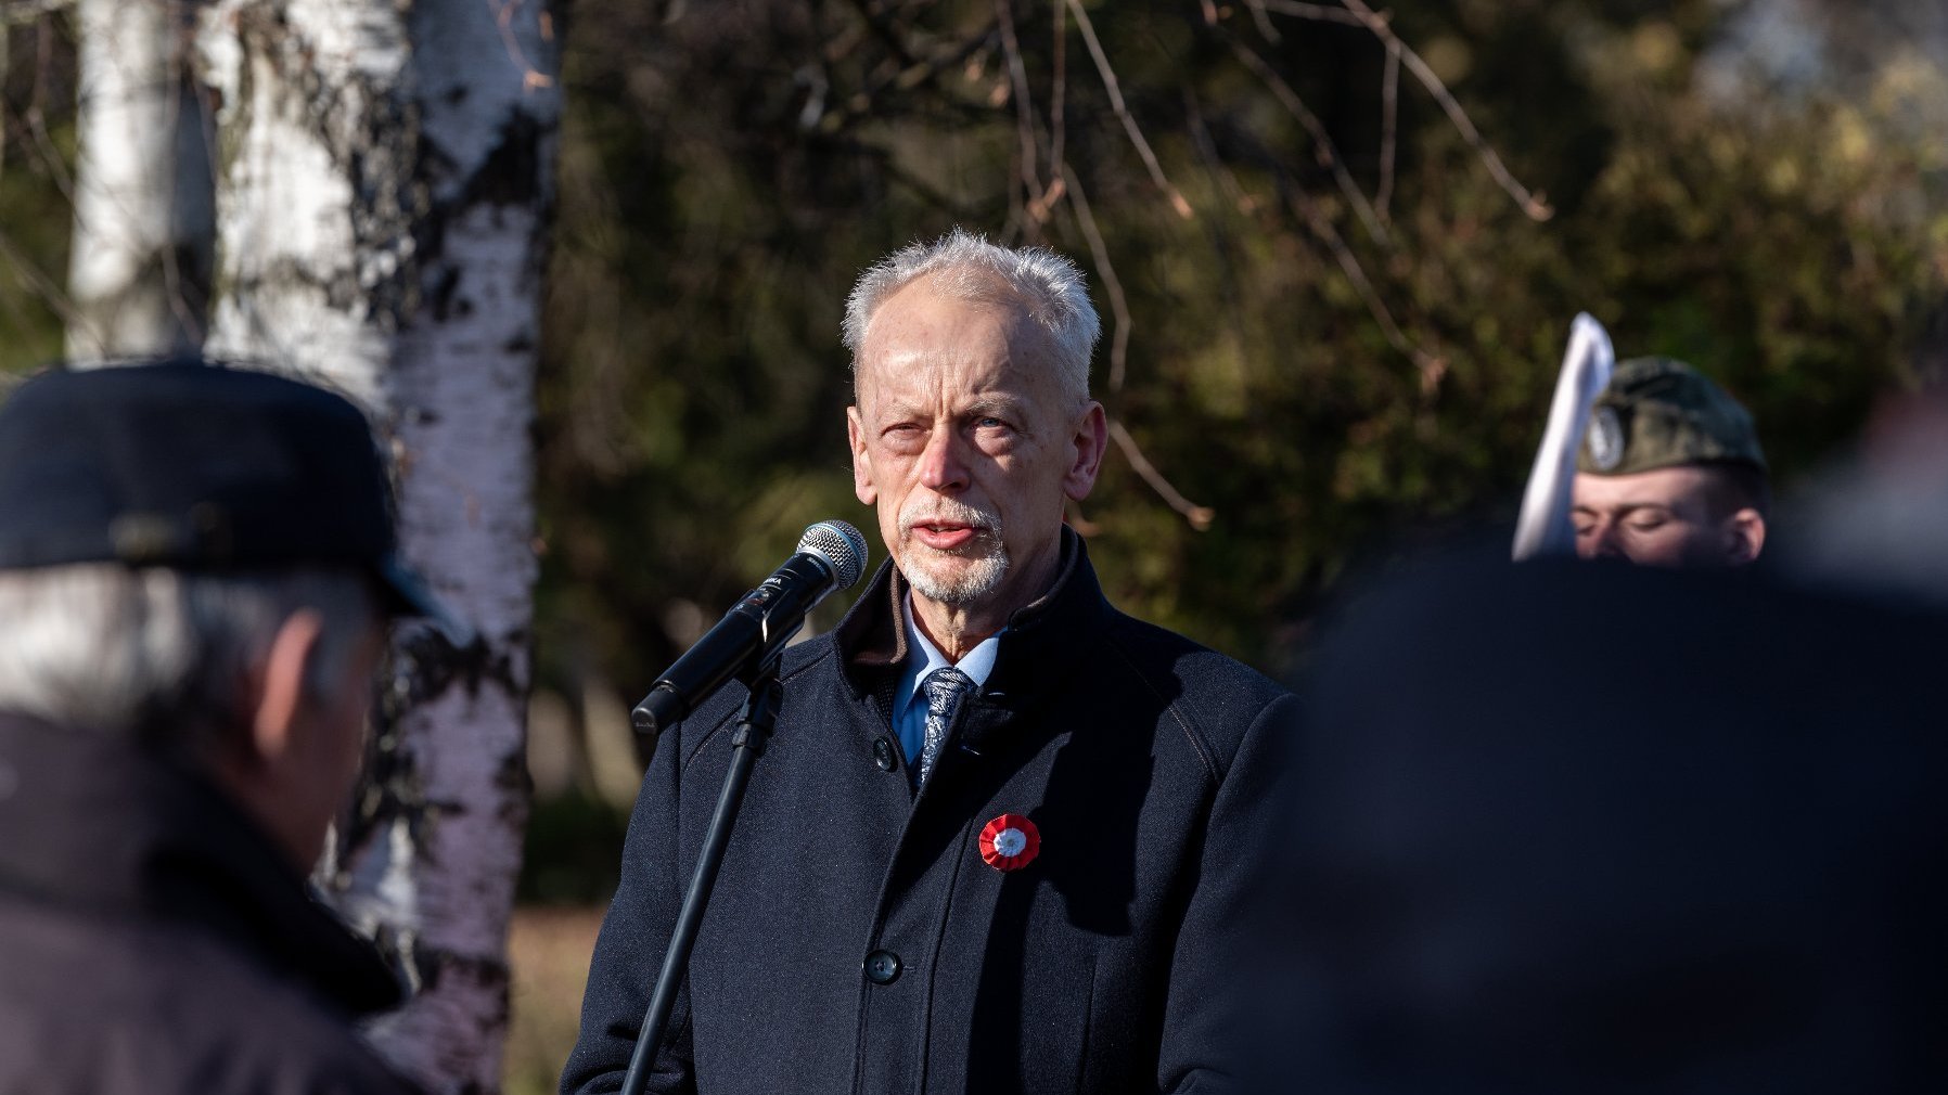
M1948 618L1451 557L1301 696L1262 1091L1948 1089Z

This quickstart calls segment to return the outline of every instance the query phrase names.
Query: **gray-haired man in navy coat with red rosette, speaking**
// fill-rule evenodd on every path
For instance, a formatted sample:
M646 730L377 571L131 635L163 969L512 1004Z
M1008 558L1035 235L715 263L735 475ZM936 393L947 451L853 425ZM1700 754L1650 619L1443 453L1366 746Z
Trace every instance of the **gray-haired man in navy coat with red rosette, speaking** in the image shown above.
M1105 600L1064 507L1106 442L1081 273L964 232L845 312L892 555L783 661L653 1091L1219 1091L1290 698ZM666 731L563 1091L614 1091L742 690Z

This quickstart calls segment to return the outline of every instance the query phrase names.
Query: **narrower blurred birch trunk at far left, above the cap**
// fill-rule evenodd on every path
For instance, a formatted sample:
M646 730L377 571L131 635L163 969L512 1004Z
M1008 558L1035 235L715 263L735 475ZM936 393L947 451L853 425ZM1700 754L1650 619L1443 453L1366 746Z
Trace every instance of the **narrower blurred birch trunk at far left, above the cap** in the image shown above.
M76 0L68 359L195 351L210 294L208 111L189 53L195 0Z

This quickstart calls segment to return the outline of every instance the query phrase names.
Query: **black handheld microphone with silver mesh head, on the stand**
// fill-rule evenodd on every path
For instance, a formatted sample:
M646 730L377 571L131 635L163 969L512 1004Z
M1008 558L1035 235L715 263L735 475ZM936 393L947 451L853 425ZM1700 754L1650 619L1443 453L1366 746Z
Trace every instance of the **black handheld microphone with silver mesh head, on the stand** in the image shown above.
M805 627L805 614L865 575L865 536L843 520L820 520L799 549L758 588L725 612L684 657L662 670L649 696L629 711L639 735L658 735L697 709L730 678L762 666Z

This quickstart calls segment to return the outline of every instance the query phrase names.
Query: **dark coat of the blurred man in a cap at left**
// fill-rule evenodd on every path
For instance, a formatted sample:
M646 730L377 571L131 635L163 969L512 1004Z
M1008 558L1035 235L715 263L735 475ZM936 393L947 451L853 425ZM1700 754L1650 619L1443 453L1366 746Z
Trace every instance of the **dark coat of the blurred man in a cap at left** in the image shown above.
M0 715L0 1095L407 1095L372 949L218 791Z

